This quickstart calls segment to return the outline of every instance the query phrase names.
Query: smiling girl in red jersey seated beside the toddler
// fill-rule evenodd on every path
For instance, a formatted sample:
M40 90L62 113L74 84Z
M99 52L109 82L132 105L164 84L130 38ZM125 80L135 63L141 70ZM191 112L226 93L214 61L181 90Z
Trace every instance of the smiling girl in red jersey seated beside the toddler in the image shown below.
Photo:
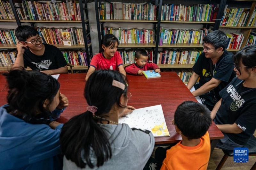
M95 70L119 70L120 73L126 76L123 66L123 60L120 53L117 51L118 39L113 34L106 34L101 40L100 53L92 57L89 70L85 80Z

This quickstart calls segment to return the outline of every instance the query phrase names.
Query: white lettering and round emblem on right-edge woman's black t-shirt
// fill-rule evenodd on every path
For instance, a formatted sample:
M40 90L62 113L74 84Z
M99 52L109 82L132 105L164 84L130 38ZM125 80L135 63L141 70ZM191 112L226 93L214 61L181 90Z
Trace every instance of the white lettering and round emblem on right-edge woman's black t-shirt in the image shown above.
M227 92L230 93L230 97L233 99L233 102L230 105L230 109L232 111L236 111L244 104L244 99L238 94L233 85L229 85L227 88Z

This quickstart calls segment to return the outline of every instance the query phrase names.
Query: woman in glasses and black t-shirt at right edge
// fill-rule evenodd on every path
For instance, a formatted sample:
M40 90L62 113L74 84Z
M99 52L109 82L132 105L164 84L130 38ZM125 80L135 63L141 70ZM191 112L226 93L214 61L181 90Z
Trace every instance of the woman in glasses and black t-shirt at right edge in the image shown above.
M256 45L242 48L234 56L236 78L222 91L211 117L223 132L217 148L244 146L256 129Z

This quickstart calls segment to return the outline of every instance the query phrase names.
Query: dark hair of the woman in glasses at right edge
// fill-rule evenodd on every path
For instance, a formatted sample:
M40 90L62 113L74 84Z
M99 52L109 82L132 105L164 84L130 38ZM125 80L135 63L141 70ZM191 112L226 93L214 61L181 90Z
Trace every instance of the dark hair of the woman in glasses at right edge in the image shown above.
M242 48L241 50L237 51L236 54L234 55L234 62L235 62L235 66L237 71L240 72L239 69L239 62L241 61L244 66L246 66L245 70L248 74L249 71L248 69L251 69L253 67L256 67L256 45L249 45L249 46L245 46L244 48Z

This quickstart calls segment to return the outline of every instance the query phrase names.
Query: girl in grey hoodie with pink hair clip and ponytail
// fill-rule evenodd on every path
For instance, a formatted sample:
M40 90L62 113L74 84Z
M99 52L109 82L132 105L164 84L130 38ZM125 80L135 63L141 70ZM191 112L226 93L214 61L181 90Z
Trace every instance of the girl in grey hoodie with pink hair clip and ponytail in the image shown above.
M86 82L87 111L64 124L63 169L143 169L155 144L148 130L118 124L131 97L125 76L97 70Z

